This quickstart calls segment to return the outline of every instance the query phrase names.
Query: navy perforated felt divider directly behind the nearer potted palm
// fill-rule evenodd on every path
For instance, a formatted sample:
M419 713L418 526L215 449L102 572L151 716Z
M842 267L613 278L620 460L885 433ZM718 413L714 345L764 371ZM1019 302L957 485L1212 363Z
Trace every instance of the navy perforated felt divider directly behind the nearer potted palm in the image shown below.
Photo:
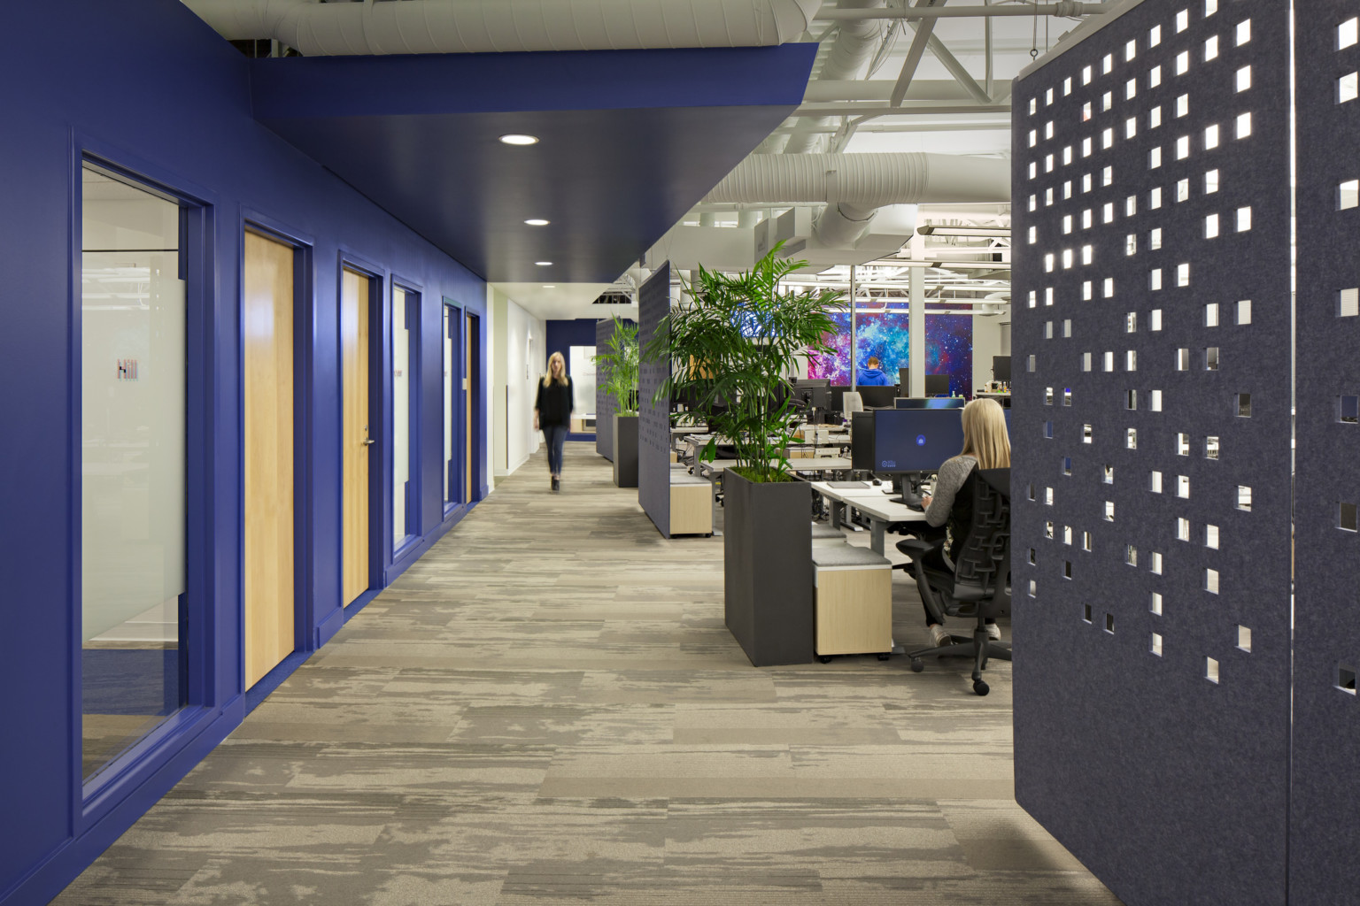
M653 402L670 376L670 359L650 359L647 345L670 314L670 262L653 272L638 289L638 503L651 523L670 537L670 401Z

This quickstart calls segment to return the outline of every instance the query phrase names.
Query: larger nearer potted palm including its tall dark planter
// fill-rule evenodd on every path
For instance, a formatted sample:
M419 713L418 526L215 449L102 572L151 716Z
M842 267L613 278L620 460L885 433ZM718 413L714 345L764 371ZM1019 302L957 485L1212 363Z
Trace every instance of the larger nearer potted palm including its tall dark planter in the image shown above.
M779 246L751 270L699 268L687 297L672 308L647 357L669 357L670 378L657 401L683 395L709 413L717 436L703 451L732 444L722 474L724 614L751 663L813 659L812 492L789 469L790 402L785 376L802 355L826 355L836 330L830 310L840 291L781 288L805 261Z

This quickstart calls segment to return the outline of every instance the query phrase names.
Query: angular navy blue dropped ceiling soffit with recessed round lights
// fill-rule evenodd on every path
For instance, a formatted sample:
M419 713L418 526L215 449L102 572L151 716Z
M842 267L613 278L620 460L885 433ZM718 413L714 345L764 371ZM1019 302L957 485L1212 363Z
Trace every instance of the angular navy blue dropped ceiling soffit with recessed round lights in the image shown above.
M260 122L484 278L608 283L802 101L815 54L291 57L253 61L252 94Z

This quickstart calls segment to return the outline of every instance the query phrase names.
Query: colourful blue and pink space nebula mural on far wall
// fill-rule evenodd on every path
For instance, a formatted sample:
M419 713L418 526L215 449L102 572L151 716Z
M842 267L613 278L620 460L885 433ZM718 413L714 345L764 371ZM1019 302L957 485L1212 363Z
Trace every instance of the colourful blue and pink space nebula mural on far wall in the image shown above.
M816 356L808 363L809 378L830 378L832 384L850 384L850 312L831 314L838 330L827 337L832 355ZM910 367L907 312L861 312L858 316L858 350L861 384L895 384L898 368ZM868 367L879 360L881 376ZM972 318L970 315L926 315L928 375L949 375L949 393L972 395Z

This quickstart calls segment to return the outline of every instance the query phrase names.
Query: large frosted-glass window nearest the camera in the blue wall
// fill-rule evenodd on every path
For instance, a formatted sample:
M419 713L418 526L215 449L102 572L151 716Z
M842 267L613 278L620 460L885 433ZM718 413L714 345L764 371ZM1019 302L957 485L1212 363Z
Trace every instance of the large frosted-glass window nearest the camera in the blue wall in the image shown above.
M83 769L184 704L185 281L180 208L83 174Z

